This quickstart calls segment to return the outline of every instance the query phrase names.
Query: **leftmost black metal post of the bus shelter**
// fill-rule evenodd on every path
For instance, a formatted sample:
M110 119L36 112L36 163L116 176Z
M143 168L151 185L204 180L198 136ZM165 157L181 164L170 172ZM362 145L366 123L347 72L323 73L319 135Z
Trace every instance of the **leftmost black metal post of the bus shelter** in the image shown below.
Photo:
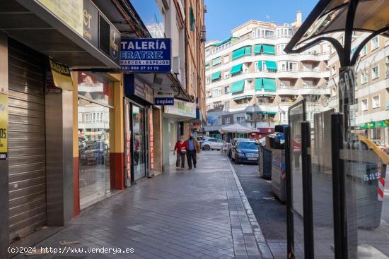
M286 165L286 236L288 258L294 258L294 221L292 210L292 187L291 187L291 130L289 126L284 128L285 133L285 165Z

